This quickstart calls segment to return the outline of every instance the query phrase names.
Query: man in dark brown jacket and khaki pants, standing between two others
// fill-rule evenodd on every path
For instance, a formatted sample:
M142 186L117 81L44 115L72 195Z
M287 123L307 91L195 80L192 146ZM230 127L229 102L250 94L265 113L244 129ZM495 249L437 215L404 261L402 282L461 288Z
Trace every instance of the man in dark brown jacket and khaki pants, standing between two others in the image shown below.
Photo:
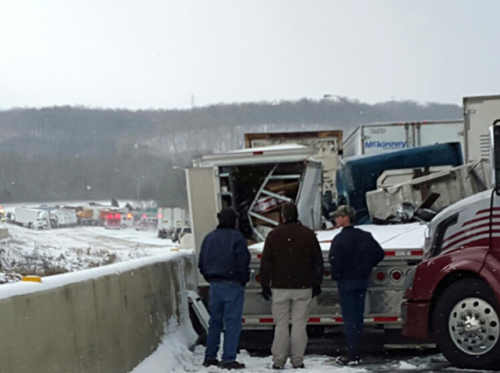
M277 370L285 367L288 358L294 368L304 367L308 306L311 298L321 293L324 273L319 242L315 233L299 222L297 206L284 204L281 217L283 224L267 236L260 260L263 297L269 300L272 296L276 329L271 351L273 369Z

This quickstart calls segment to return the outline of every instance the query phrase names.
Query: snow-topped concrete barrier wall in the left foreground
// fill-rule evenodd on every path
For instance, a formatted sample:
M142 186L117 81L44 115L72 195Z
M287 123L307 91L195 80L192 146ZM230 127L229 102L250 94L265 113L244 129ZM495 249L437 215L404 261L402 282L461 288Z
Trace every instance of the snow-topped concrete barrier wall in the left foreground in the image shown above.
M189 317L192 254L0 286L0 372L127 373Z

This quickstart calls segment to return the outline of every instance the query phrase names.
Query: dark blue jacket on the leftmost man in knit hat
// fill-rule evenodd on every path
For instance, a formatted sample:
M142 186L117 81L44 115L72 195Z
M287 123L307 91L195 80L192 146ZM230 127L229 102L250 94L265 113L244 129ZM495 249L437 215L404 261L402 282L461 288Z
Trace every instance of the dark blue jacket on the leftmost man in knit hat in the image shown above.
M242 233L218 226L201 244L198 267L207 282L250 280L250 252Z

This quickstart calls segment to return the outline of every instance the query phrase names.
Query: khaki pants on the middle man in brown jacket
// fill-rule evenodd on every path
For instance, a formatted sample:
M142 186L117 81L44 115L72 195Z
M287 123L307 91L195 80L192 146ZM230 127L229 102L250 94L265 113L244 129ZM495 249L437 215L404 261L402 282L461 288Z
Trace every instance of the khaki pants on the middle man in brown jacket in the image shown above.
M271 352L273 363L283 367L288 358L294 367L303 363L306 351L306 325L309 317L311 289L273 289L272 315L276 322ZM292 319L292 332L289 322Z

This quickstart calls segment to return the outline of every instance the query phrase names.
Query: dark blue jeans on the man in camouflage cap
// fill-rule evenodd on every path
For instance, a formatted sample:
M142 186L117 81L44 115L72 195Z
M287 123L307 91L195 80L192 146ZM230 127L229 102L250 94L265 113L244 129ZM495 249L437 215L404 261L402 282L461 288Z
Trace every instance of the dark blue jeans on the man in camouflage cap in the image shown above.
M366 280L338 281L340 308L344 320L346 355L350 359L359 358L359 342L363 332L367 288Z

